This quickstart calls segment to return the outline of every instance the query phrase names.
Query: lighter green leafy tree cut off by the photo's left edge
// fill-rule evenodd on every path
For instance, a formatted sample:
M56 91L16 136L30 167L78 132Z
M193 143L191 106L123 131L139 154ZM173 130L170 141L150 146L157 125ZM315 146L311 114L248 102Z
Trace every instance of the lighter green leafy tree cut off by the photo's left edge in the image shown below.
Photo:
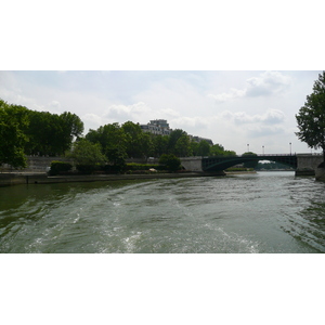
M0 165L26 167L24 146L28 127L27 108L0 100Z

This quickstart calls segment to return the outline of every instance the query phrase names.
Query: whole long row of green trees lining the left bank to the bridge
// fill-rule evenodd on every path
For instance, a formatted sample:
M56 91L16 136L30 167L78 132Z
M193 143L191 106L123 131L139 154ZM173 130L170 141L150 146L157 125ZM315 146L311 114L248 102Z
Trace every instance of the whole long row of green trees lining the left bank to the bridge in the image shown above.
M191 141L181 129L155 135L132 121L90 129L86 135L82 132L83 122L75 114L36 112L0 100L0 165L25 167L25 155L69 156L79 165L108 162L116 167L127 158L236 155L220 144Z

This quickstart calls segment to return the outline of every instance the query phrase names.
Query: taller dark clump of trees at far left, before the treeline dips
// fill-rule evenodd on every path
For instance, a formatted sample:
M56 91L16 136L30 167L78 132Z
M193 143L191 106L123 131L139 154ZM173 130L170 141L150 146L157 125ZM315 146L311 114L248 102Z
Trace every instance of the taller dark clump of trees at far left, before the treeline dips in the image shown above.
M30 110L0 100L0 165L25 167L26 155L63 156L82 132L75 114Z

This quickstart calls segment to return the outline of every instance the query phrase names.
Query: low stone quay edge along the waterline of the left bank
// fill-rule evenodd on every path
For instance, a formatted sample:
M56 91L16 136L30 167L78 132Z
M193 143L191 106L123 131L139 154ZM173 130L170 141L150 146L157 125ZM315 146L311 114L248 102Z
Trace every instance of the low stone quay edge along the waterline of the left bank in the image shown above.
M223 172L174 172L174 173L146 173L146 174L84 174L84 176L55 176L49 177L44 172L1 173L0 186L18 184L50 184L75 182L109 182L120 180L150 180L150 179L177 179L199 177L222 177Z

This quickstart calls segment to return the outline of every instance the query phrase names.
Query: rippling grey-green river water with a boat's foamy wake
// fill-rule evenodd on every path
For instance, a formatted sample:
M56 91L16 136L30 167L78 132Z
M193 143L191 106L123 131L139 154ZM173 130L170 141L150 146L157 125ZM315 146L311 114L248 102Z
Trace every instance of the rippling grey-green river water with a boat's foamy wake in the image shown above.
M325 183L272 171L0 188L0 252L325 252Z

